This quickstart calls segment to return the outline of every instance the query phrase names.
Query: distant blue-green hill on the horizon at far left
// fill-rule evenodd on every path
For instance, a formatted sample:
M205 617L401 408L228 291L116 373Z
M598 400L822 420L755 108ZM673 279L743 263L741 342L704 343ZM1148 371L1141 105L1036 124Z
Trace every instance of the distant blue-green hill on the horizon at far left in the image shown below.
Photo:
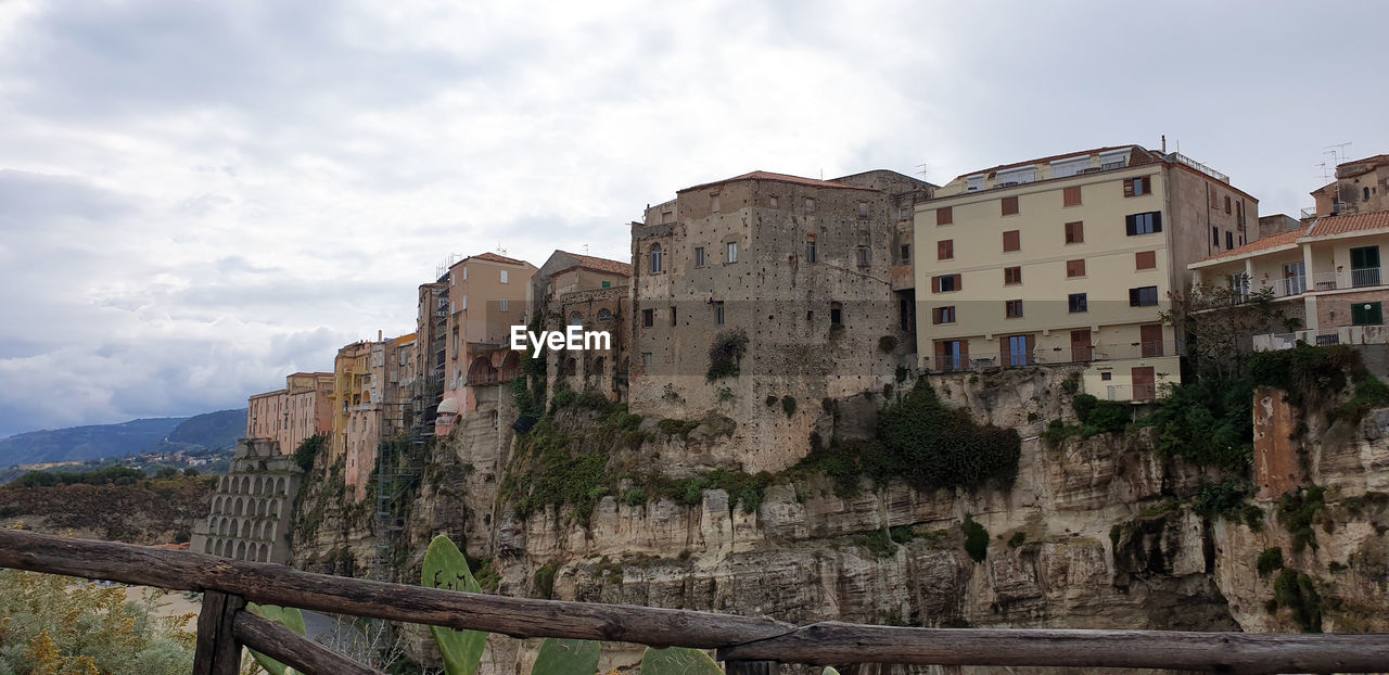
M246 410L222 410L194 417L132 419L46 429L0 439L0 467L47 461L85 461L125 457L161 449L233 447L246 429Z

